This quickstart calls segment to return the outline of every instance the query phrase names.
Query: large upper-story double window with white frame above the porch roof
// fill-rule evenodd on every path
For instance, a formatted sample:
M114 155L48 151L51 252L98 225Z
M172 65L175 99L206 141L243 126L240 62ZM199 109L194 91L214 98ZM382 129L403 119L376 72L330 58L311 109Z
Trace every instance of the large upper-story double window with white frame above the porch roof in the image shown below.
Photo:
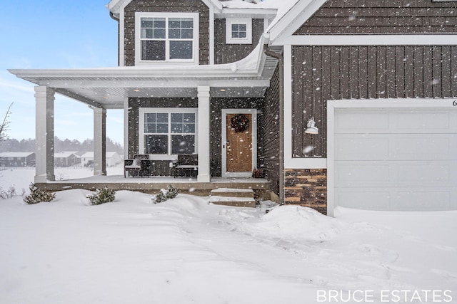
M199 15L136 13L136 63L198 63Z

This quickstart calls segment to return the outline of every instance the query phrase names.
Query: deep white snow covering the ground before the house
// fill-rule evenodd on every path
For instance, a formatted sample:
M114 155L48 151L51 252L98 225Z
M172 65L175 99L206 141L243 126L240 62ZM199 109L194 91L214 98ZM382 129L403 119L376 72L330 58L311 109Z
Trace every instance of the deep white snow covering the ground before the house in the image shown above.
M33 175L1 171L0 187L20 194ZM0 303L457 303L456 211L333 219L185 194L89 206L90 193L0 200Z

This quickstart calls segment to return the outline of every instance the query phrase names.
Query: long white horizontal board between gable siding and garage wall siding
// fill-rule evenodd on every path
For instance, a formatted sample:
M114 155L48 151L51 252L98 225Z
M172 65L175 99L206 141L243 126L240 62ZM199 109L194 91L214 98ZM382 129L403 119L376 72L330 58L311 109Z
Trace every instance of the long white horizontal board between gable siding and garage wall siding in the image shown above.
M282 46L453 46L456 34L398 34L398 35L295 35L278 38L271 45Z

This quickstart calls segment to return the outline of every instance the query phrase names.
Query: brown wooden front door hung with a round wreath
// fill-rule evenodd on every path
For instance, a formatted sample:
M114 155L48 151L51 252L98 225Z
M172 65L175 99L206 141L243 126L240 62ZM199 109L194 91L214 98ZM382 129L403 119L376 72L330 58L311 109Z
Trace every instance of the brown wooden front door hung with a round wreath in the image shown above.
M248 118L248 128L236 132L231 127L231 118L237 114L228 114L227 126L227 172L252 171L252 115L243 114Z

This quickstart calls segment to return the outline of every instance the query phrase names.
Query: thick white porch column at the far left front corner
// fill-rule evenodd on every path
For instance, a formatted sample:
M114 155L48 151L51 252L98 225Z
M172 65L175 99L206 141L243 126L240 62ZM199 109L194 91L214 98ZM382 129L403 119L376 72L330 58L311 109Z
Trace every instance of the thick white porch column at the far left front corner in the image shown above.
M54 94L52 88L35 87L35 182L54 181Z

